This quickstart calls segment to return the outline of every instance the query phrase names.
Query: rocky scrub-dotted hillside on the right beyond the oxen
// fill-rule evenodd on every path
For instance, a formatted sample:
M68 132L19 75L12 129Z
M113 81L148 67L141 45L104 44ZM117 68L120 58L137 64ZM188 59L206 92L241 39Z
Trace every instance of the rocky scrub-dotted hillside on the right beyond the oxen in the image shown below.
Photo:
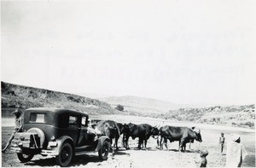
M180 108L154 117L202 124L255 128L255 105Z

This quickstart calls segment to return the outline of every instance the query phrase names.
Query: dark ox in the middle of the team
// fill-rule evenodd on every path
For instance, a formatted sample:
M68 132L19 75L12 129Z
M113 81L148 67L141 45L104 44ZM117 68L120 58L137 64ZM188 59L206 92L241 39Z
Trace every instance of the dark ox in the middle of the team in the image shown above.
M150 136L158 136L159 134L159 130L156 127L152 127L148 124L134 125L129 123L128 128L129 129L125 132L124 138L124 146L126 149L129 149L128 140L130 136L132 139L135 139L136 137L139 138L138 149L141 149L141 145L143 144L143 142L144 147L147 148L147 142Z

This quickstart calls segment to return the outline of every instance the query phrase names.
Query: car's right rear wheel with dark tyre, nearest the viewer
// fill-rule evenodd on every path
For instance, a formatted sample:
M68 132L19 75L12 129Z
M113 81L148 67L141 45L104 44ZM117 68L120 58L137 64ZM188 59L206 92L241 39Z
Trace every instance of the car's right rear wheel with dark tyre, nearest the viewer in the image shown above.
M70 143L65 142L61 147L61 152L55 157L58 165L67 167L73 158L73 148Z

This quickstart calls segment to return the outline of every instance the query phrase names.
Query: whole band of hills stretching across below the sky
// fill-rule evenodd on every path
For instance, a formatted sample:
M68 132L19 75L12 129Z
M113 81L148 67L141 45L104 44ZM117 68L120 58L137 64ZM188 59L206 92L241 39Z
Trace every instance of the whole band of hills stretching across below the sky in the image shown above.
M15 107L63 107L90 114L119 113L113 107L125 107L124 115L189 121L211 125L255 128L255 105L189 107L136 96L105 97L99 100L1 82L3 109ZM110 104L110 105L109 105ZM2 113L3 115L3 113Z

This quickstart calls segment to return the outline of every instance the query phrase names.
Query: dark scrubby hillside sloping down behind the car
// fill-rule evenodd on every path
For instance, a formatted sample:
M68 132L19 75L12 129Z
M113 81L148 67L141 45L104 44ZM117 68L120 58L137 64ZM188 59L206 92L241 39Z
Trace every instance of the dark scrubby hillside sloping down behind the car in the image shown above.
M5 82L1 82L1 99L2 109L15 107L63 107L86 113L116 112L108 103L96 99Z

